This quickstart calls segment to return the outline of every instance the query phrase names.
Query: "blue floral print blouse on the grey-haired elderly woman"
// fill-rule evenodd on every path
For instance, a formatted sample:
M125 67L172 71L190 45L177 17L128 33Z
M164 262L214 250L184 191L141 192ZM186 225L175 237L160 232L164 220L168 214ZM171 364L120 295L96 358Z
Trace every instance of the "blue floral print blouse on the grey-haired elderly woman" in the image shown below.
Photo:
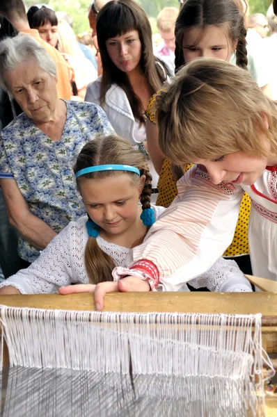
M67 101L61 140L54 142L25 113L0 133L0 178L15 179L33 215L57 233L86 213L73 165L81 148L98 133L114 133L99 106ZM19 238L19 256L35 261L40 252Z

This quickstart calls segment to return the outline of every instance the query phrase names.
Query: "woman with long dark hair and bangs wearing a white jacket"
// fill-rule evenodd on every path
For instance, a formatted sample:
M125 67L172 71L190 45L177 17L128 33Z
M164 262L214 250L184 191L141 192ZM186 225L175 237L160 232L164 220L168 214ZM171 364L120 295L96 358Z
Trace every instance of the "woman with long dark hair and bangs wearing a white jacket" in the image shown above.
M132 0L109 1L97 17L103 74L88 86L86 101L100 104L113 129L145 152L145 110L168 71L155 58L148 16ZM150 164L153 188L157 174Z

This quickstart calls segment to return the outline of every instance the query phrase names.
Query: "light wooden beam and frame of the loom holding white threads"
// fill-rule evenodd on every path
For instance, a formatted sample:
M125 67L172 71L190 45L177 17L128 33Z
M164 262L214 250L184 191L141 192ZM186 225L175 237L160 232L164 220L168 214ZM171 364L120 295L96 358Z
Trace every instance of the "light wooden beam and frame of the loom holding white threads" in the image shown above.
M251 278L263 289L277 283ZM268 354L277 354L277 288L276 293L110 293L104 300L104 311L120 312L186 312L186 313L262 313L262 343ZM78 295L1 295L0 304L39 309L94 310L91 294ZM4 355L8 363L8 352ZM267 416L277 415L277 395L266 393Z

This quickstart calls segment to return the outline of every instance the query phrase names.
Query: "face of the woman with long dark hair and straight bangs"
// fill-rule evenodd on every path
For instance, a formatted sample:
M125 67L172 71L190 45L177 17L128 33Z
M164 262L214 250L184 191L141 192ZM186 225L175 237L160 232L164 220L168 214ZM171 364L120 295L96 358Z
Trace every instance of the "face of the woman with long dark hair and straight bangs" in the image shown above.
M141 40L138 31L106 40L106 50L114 65L123 72L132 72L141 60Z

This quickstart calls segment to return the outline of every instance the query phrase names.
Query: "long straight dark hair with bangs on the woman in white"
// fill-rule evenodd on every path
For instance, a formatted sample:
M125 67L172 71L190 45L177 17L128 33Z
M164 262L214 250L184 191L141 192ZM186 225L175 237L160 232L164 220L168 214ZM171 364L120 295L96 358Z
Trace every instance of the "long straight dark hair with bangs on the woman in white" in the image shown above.
M144 123L141 100L134 94L125 72L113 64L106 50L106 40L132 30L139 32L142 49L141 67L148 81L151 95L157 92L166 80L168 71L153 54L151 26L141 6L133 0L109 1L101 8L96 23L97 41L103 66L100 102L104 104L107 90L111 84L116 83L125 91L134 117Z

